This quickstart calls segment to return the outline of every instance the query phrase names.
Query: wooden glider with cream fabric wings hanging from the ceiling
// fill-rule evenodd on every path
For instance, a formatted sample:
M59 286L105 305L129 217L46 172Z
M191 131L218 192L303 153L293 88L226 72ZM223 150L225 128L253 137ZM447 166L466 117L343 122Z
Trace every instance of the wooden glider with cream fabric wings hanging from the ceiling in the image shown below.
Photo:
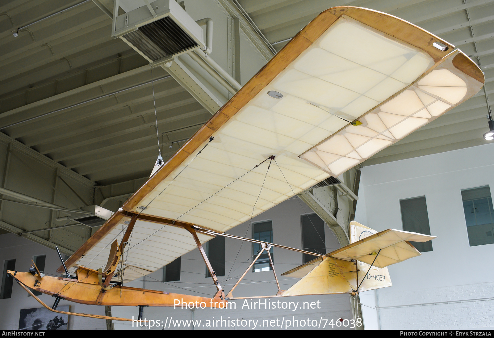
M214 297L224 299L205 242L234 237L224 233L362 163L483 84L482 71L468 56L409 22L365 8L330 8L288 42L66 264L97 271L114 262L112 243L124 236L120 267L111 276L101 272L106 285L101 287L108 288L114 283L107 279L147 275L199 248L217 288ZM308 283L295 290L295 284L279 294L355 293L363 290L359 281L366 290L387 286L384 266L418 254L406 242L417 240L416 234L400 237L408 234L386 230L289 272L301 276L310 270L297 288L317 280L314 274L346 286ZM274 244L262 248L268 245ZM384 267L374 275L385 281L362 282L369 262L370 269ZM353 279L348 271L354 271ZM82 281L69 283L78 288ZM120 289L107 292L115 288ZM72 299L98 303L94 295Z

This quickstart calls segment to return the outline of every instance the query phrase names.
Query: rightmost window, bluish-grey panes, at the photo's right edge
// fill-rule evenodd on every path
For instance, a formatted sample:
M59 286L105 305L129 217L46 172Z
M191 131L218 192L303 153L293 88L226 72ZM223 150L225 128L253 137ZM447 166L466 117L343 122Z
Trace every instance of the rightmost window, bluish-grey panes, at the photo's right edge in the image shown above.
M488 185L461 190L470 246L493 244L494 211Z

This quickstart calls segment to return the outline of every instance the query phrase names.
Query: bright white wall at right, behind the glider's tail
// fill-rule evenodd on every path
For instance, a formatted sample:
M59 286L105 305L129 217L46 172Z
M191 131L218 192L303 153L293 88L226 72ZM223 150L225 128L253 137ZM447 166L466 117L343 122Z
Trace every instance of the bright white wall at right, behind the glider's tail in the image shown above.
M461 189L494 188L494 144L362 169L355 220L403 229L400 200L424 196L433 251L389 266L393 286L361 294L367 328L494 327L494 245L470 247ZM373 309L377 305L377 312Z

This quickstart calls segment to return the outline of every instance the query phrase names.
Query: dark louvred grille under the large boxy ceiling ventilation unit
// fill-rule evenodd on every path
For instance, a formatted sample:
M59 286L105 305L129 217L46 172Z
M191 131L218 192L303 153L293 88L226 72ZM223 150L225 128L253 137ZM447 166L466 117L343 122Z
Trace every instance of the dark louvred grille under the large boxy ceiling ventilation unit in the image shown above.
M153 61L198 46L169 16L125 34L124 39Z

